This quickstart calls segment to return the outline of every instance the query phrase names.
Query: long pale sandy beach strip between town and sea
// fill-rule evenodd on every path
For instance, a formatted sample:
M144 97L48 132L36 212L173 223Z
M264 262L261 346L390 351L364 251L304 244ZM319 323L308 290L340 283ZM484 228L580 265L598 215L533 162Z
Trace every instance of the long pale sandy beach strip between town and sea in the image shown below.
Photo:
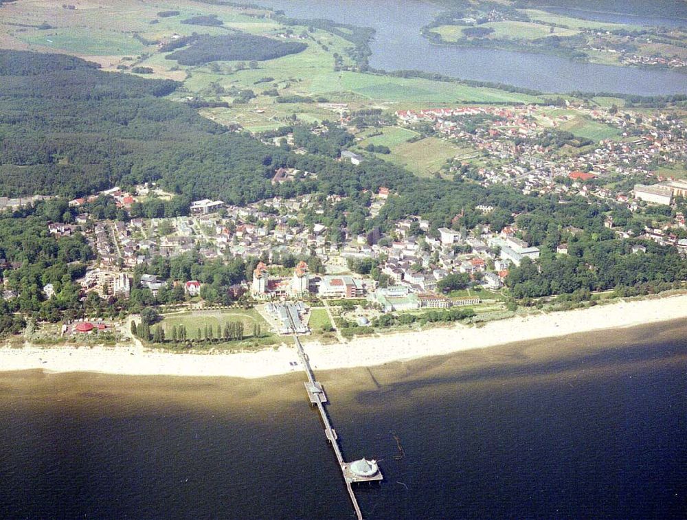
M560 313L491 321L482 327L453 326L422 332L354 339L346 344L307 343L315 370L376 366L471 350L561 337L578 332L627 328L687 317L687 295L596 306ZM99 372L120 375L227 376L262 378L302 370L287 346L236 354L176 354L135 347L1 348L0 371Z

